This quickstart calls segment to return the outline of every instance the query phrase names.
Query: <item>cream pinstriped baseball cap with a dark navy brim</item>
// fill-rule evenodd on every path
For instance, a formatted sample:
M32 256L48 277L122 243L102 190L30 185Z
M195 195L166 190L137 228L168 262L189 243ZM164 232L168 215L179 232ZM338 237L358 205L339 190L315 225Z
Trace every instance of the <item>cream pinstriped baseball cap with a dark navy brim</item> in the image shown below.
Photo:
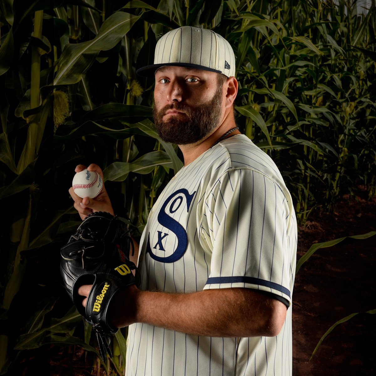
M140 76L153 76L166 65L192 67L235 75L235 56L221 35L209 29L182 26L163 35L155 47L154 64L139 68Z

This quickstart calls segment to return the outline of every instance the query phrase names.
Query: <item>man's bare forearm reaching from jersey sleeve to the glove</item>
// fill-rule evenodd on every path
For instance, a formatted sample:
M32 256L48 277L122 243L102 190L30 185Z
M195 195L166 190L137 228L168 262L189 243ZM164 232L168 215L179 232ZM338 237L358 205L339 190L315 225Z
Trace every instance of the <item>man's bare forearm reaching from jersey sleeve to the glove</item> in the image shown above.
M117 309L113 320L118 327L141 322L211 337L274 336L286 316L283 303L244 288L191 294L132 288L132 292L120 297L120 301L121 309ZM132 304L134 310L130 312Z

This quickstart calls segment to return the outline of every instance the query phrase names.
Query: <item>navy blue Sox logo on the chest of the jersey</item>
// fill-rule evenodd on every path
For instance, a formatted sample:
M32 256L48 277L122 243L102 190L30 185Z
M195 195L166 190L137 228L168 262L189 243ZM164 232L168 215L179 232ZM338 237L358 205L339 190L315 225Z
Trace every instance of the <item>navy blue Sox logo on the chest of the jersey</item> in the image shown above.
M165 227L168 230L171 230L176 235L176 237L177 237L177 247L171 253L171 255L169 255L167 257L160 257L160 256L155 255L152 252L152 247L150 246L150 232L149 232L147 245L146 245L146 253L149 253L150 257L152 259L154 259L155 261L166 262L166 263L175 262L175 261L179 260L183 256L184 252L186 251L187 246L188 246L188 237L187 237L186 231L185 231L184 227L179 222L177 222L176 220L171 218L166 213L166 209L168 210L168 212L170 214L175 213L180 208L180 206L182 205L182 203L184 201L184 199L183 199L183 196L184 196L185 202L186 202L186 211L188 213L195 193L196 192L193 192L192 194L190 194L188 192L188 190L186 190L184 188L179 189L179 190L175 191L174 193L172 193L165 200L163 205L161 206L161 210L158 213L158 222L163 227ZM173 201L171 202L171 200L173 200ZM168 208L167 208L167 206L168 206ZM157 233L158 233L158 241L155 244L155 246L153 247L153 249L159 249L161 251L165 251L162 240L164 240L164 238L168 237L168 233L164 232L162 234L162 231L159 231L159 230L157 231Z

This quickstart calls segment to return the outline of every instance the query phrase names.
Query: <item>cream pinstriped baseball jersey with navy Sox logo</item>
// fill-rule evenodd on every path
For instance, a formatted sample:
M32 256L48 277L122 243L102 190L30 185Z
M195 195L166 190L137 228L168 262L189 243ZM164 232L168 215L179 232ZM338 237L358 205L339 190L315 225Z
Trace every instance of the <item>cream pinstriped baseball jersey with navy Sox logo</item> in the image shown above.
M142 290L243 287L289 308L276 337L204 337L132 324L128 376L292 374L296 217L276 165L245 135L225 139L173 177L140 244Z

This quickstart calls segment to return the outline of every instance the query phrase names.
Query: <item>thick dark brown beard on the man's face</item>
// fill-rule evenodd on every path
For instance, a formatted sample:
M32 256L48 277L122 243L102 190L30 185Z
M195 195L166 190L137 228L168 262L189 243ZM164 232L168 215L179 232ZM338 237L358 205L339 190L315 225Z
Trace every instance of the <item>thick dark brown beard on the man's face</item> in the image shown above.
M220 86L209 102L197 107L180 105L176 102L158 110L155 105L154 123L161 139L173 144L187 145L207 138L219 125L222 114L222 95L222 86ZM170 116L167 121L163 121L169 109L183 111L187 119L179 120L176 116Z

